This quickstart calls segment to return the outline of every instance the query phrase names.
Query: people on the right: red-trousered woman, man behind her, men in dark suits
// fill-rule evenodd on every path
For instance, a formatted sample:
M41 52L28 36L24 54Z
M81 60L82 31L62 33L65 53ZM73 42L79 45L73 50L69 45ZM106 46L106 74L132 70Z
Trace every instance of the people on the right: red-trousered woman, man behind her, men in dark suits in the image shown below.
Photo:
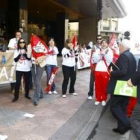
M140 139L140 105L139 88L137 91L137 105L131 104L130 97L114 95L118 80L127 81L128 86L138 86L140 83L140 73L137 71L135 56L130 52L131 43L128 38L119 43L118 59L113 63L114 52L108 47L106 40L101 35L97 36L97 44L93 48L91 55L91 74L88 99L93 98L95 86L95 105L102 103L106 105L107 95L110 94L110 110L117 120L117 127L113 132L125 134L132 127L138 139ZM136 72L137 71L137 72ZM94 84L95 83L95 84ZM139 87L139 86L138 86ZM127 116L127 107L132 106L131 118Z

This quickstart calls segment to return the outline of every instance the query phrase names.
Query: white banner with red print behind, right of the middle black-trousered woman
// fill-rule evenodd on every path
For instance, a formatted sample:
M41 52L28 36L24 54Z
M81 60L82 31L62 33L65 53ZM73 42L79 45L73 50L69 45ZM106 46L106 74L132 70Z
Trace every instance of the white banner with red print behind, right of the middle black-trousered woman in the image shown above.
M78 55L78 61L77 61L77 68L83 69L90 67L90 56L91 56L91 49L88 50L86 53L81 52Z

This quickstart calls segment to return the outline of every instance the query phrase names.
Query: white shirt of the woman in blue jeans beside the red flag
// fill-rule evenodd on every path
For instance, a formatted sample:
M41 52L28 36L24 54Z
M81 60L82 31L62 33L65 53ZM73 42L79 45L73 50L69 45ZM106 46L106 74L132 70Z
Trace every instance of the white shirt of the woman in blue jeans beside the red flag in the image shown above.
M57 47L49 47L49 51L53 51L53 54L46 56L46 64L57 66L57 54L59 53Z

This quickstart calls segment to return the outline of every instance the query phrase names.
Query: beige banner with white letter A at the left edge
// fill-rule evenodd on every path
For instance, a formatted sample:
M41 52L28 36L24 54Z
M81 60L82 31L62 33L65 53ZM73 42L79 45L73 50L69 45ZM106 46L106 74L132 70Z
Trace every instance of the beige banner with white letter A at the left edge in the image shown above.
M13 51L0 52L0 84L10 83L10 78L13 79L12 82L15 82L15 70L12 72L13 57Z

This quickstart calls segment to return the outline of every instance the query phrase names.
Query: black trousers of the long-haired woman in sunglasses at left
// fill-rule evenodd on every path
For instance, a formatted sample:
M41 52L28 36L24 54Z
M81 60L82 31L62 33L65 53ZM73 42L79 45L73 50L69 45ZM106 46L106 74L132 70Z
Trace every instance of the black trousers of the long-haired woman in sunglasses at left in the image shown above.
M16 71L16 85L15 85L15 99L19 98L19 88L21 84L21 78L24 75L25 79L25 96L29 96L29 86L30 86L30 75L31 71L28 72L22 72L22 71Z

